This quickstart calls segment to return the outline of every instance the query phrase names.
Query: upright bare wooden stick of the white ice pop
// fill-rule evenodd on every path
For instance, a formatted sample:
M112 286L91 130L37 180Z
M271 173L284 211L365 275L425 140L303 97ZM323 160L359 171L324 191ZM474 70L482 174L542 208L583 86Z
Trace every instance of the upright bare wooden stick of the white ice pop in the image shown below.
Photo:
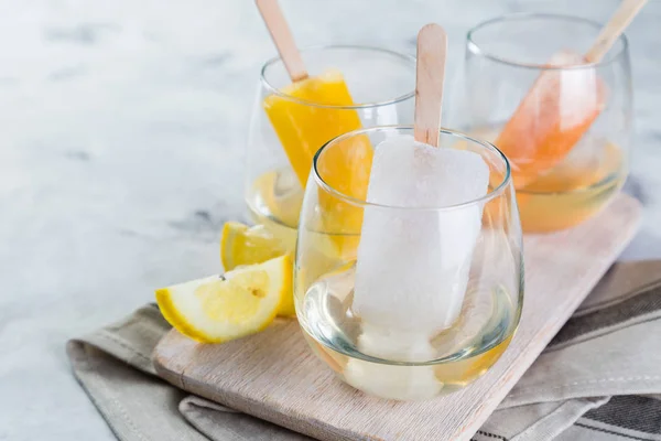
M447 35L443 28L435 23L424 25L418 33L413 135L416 141L433 147L438 147L446 54Z

